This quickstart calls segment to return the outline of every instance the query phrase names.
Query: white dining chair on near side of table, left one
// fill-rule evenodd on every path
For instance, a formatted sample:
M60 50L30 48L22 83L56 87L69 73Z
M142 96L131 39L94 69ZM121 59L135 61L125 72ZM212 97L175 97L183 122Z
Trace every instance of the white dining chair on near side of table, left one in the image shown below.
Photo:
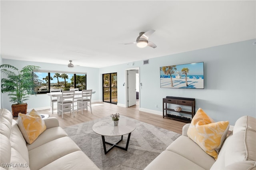
M74 115L74 94L75 91L62 91L62 97L61 100L58 101L58 115L62 115L62 119L63 119L63 115L64 112L70 111L70 115L71 115L71 111L73 111L73 116Z

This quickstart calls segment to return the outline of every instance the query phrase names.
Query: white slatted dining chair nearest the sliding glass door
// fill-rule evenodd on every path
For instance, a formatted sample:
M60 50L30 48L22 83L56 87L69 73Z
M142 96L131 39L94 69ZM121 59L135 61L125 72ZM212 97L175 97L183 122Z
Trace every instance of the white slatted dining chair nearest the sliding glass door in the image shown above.
M77 99L77 113L79 109L82 109L82 115L83 110L86 109L88 111L88 107L91 109L92 113L92 90L82 90L82 98ZM90 103L90 105L88 105Z

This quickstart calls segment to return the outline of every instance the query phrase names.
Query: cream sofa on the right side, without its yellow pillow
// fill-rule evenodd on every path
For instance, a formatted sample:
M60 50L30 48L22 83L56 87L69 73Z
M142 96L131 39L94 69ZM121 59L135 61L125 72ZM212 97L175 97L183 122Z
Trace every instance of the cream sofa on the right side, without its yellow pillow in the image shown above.
M256 170L256 119L239 118L224 141L215 161L187 135L182 136L156 157L145 170Z

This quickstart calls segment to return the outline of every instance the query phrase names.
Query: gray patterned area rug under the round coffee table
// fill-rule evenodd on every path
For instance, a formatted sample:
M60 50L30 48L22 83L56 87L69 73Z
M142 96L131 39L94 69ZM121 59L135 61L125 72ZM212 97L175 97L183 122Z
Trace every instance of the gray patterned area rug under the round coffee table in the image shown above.
M120 119L122 117L124 116L121 116ZM105 155L102 137L92 131L94 123L104 119L111 121L109 116L64 128L68 136L101 170L143 170L180 136L178 133L131 119L136 123L136 129L130 136L128 150L125 151L114 147ZM106 136L105 140L110 143L116 143L120 138L120 136ZM125 147L127 138L128 134L124 135L123 141L118 145ZM110 147L110 145L106 144L107 150Z

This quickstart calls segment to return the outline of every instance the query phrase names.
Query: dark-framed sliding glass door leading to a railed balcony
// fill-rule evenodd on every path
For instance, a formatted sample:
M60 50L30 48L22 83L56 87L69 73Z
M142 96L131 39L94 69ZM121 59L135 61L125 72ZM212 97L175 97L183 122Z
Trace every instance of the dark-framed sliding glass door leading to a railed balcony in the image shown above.
M102 75L103 101L117 104L117 73Z

